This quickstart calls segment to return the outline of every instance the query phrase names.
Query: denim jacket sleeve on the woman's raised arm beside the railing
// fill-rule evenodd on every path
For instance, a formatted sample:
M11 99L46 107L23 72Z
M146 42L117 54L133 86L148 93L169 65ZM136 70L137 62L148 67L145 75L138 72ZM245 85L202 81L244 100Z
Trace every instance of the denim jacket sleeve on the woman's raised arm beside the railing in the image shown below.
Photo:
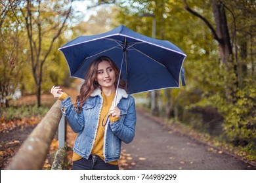
M66 116L68 124L70 125L72 130L75 133L78 133L79 131L83 130L85 124L83 120L83 112L80 112L79 114L75 112L75 108L72 104L70 97L67 97L66 99L62 100L61 103L62 114Z

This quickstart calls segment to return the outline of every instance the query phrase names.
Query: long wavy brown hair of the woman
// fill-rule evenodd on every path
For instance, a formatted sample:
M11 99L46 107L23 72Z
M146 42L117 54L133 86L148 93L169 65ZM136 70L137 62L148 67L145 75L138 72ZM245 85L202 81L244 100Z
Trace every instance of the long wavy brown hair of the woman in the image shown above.
M119 69L112 61L112 59L108 58L107 56L100 56L96 58L90 65L86 75L85 75L85 82L83 82L83 85L81 86L80 93L77 95L76 100L79 102L79 105L77 105L77 112L81 112L81 107L83 107L83 104L85 101L90 97L90 95L93 93L93 91L96 88L100 88L100 84L96 82L96 77L98 74L98 63L102 61L108 61L110 63L111 67L113 68L114 72L116 73L116 81L114 82L115 88L117 88L117 82L118 82L118 76L119 76ZM123 80L119 81L119 88L125 89L125 82Z

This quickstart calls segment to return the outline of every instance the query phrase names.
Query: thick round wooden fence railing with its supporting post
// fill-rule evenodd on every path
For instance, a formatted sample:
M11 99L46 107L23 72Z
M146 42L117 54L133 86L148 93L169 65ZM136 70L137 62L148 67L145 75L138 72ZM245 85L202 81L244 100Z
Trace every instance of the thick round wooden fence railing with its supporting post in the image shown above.
M20 150L12 158L7 169L38 170L42 169L54 135L58 130L59 148L56 152L52 169L63 169L66 158L65 118L60 111L61 103L56 101L45 117L33 129L32 133L22 144Z

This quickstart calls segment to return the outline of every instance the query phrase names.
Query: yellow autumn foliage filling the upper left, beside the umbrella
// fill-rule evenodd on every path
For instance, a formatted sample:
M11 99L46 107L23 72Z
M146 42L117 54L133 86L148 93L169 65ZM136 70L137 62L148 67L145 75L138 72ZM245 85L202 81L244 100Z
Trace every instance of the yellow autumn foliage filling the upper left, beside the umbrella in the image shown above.
M26 10L29 2L30 13ZM4 97L11 99L15 90L20 90L22 95L32 94L38 92L41 85L43 93L49 92L53 84L63 84L69 76L68 67L58 48L68 42L67 33L63 33L68 26L65 24L60 35L58 29L64 22L70 1L14 1L13 7L9 5L11 2L5 3L8 8L3 8L1 16L1 102L6 101ZM4 6L1 3L0 7ZM26 15L32 16L28 22ZM30 27L30 35L26 25ZM15 67L9 66L12 60Z

